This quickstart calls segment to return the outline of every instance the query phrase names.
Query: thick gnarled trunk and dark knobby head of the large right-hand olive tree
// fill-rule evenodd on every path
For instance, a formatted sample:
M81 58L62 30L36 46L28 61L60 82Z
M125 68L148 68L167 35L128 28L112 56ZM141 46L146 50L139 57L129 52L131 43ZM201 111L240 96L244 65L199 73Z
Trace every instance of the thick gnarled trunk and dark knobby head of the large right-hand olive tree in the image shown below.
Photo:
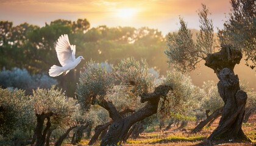
M218 92L224 101L219 125L208 141L251 141L241 129L247 94L240 90L238 75L233 72L242 56L241 50L221 46L219 52L205 58L205 65L212 68L219 78Z

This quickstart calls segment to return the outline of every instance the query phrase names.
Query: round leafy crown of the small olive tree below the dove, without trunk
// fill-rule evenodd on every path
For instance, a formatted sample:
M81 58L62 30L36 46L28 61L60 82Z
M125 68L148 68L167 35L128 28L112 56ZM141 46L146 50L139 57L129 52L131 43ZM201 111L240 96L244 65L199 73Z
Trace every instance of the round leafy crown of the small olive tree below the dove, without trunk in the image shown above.
M74 113L78 111L77 101L66 97L65 93L55 89L55 86L50 89L34 90L30 99L35 114L52 113L51 121L55 124L63 124L63 122L71 124L74 120Z

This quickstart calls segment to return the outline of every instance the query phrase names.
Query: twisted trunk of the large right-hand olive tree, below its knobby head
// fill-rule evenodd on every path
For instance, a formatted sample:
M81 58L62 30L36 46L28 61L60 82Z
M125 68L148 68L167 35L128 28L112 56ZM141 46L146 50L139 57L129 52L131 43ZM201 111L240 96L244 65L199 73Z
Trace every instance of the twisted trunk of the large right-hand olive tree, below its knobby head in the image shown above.
M247 94L240 90L238 76L228 68L219 74L218 92L224 101L218 127L208 137L209 141L251 141L241 129Z

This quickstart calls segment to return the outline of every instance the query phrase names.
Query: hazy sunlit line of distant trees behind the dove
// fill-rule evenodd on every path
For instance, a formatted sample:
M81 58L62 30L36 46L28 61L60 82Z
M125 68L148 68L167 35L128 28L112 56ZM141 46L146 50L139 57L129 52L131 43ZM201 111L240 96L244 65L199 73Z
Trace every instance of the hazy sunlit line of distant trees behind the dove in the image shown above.
M54 43L62 34L68 34L71 44L76 44L76 54L85 57L85 61L107 61L116 64L121 59L145 58L149 66L165 72L167 58L165 38L161 32L148 27L90 28L87 19L68 21L57 19L44 27L27 23L13 26L12 22L0 22L0 69L27 69L30 74L46 74L52 64L59 64ZM74 96L74 86L79 74L84 71L80 64L66 76L57 77L59 85L68 96ZM66 82L68 78L68 82Z

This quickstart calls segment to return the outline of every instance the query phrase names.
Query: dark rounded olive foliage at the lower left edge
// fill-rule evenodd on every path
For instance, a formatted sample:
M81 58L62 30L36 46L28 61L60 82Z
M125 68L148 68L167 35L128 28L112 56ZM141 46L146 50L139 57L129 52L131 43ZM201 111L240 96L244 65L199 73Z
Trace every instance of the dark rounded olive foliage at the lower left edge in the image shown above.
M35 125L34 106L24 91L0 88L0 134L5 137L29 137ZM22 134L21 134L22 133Z

